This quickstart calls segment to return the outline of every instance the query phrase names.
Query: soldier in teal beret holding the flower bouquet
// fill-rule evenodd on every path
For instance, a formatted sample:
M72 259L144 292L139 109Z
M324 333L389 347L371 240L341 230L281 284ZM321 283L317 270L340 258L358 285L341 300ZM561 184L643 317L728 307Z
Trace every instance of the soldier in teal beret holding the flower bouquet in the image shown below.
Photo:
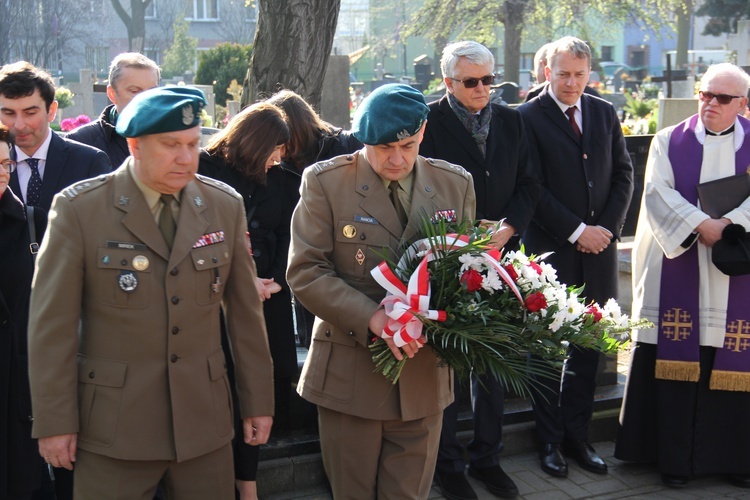
M370 275L384 249L418 237L425 215L474 218L471 175L418 155L427 111L412 87L375 90L354 116L365 147L306 169L292 217L287 280L316 316L298 392L318 405L334 498L427 498L453 401L450 370L420 342L386 340L412 358L395 385L373 373L368 349L386 323Z

